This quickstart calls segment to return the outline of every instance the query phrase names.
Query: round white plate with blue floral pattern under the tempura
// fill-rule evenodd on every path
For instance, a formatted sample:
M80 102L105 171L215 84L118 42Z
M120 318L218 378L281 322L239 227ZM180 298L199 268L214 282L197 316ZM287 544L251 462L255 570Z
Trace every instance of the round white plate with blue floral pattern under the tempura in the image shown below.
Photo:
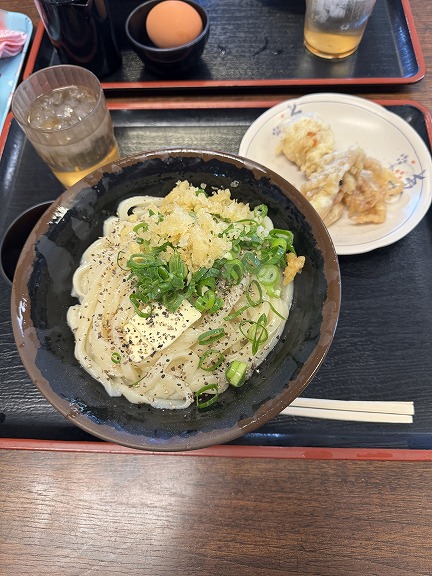
M383 224L354 224L344 214L329 226L337 254L368 252L411 232L431 204L431 155L405 120L374 102L331 93L287 100L267 110L249 127L239 154L272 169L299 188L305 181L303 173L275 151L284 124L302 114L317 114L328 122L338 150L358 145L368 156L391 167L405 182L402 194L388 203Z

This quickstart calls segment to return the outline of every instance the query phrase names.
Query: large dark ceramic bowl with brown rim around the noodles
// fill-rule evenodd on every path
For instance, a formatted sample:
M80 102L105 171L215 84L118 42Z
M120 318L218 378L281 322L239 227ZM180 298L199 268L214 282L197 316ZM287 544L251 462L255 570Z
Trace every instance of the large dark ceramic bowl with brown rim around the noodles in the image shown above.
M166 195L180 179L230 188L251 207L264 203L275 226L292 230L305 267L295 278L283 337L241 387L207 410L161 410L111 398L74 357L66 312L72 276L104 220L136 194ZM262 426L309 384L332 342L340 274L321 219L286 180L244 158L169 149L124 158L64 192L31 232L12 287L12 322L22 361L41 393L66 418L98 438L133 448L189 450L233 440Z

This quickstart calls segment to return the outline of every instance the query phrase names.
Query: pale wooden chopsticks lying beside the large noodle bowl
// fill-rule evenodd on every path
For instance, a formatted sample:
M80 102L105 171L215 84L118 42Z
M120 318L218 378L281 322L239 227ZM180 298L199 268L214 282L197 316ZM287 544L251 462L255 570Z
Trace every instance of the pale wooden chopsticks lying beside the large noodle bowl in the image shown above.
M281 414L329 420L412 424L414 403L296 398Z

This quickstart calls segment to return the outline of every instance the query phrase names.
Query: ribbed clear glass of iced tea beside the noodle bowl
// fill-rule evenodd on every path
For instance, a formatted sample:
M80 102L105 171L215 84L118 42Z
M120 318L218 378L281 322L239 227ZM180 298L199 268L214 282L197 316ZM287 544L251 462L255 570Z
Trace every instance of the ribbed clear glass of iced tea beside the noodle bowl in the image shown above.
M80 66L50 66L22 82L12 111L36 152L67 188L119 158L97 77Z

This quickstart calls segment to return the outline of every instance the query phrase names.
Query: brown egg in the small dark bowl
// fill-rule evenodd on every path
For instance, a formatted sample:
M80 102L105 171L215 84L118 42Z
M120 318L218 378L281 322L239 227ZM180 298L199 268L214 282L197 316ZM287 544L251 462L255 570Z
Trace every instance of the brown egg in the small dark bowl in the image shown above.
M165 0L148 13L146 30L158 48L176 48L195 40L202 32L201 16L181 0Z

